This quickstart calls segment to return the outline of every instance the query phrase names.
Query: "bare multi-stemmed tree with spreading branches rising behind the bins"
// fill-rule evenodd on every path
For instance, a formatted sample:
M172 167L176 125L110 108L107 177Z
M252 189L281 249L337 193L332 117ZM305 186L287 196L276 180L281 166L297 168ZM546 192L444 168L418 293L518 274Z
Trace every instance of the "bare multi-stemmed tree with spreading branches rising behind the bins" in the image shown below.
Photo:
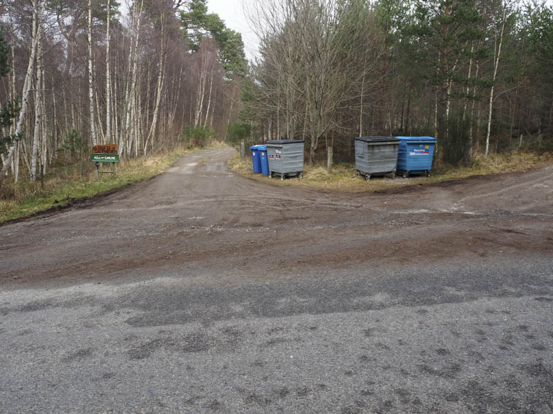
M275 1L259 3L252 19L263 41L263 68L259 72L267 110L279 128L281 112L286 128L301 123L310 132L310 163L315 159L321 138L332 128L341 128L337 113L363 89L374 88L378 80L368 73L382 53L371 25L370 8L362 1L334 0ZM281 104L281 102L284 102ZM359 103L356 103L359 106ZM278 132L277 132L278 133ZM295 133L295 131L293 132ZM292 135L292 132L287 132Z

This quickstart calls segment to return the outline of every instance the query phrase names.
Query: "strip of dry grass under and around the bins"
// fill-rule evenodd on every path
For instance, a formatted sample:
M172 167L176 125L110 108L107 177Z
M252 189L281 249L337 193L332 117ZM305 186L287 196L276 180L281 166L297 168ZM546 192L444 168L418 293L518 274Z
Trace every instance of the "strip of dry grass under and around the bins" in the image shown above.
M255 174L252 170L252 161L249 157L241 159L235 155L229 160L229 169L256 181L262 181L275 186L296 186L313 190L329 190L343 193L360 193L363 191L382 190L415 184L431 184L440 181L464 179L473 175L491 175L501 172L523 171L553 163L553 154L546 152L542 155L529 153L512 153L490 155L485 159L483 155L476 154L472 166L454 167L438 164L432 170L432 177L410 177L404 179L396 177L375 177L371 181L365 181L359 177L353 164L338 164L328 172L323 166L305 166L303 179L290 178L281 181L277 178L270 179L261 174Z

